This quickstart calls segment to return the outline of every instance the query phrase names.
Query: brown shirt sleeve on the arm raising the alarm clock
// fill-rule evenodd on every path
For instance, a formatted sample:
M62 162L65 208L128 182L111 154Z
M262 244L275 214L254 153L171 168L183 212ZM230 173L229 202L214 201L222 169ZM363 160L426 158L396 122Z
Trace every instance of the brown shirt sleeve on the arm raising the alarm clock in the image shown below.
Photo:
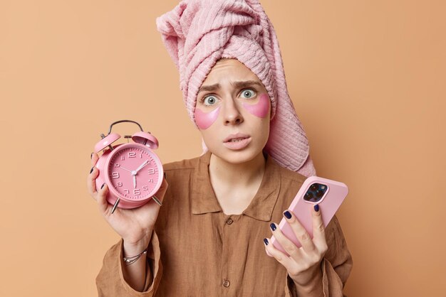
M155 296L162 276L160 260L160 242L155 230L147 249L147 265L145 286L142 292L133 289L123 276L123 239L114 244L105 253L103 266L96 276L96 287L99 297L152 297Z

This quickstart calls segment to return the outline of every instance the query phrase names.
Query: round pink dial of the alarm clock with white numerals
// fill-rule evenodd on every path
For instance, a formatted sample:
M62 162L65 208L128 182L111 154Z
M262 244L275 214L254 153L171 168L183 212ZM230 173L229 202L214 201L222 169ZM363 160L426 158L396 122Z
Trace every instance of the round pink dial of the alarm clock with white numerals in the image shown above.
M162 183L162 163L142 144L116 147L105 163L110 192L125 200L151 198Z

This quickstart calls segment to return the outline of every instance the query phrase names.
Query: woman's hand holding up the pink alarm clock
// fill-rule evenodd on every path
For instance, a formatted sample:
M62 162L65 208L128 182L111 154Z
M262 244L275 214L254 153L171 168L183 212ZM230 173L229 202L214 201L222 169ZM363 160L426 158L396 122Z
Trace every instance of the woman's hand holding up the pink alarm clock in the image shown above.
M91 171L87 179L88 192L98 202L99 211L108 224L124 239L125 245L135 247L135 251L145 249L149 244L153 227L160 212L160 205L155 203L155 201L149 201L141 207L130 210L118 207L112 214L111 209L113 205L110 205L105 200L108 186L103 185L103 188L96 189L95 185L95 179L98 177L99 171L94 166L98 158L97 153L93 153L91 156L93 171ZM166 190L167 181L164 179L162 180L160 190L155 194L160 201L164 198Z

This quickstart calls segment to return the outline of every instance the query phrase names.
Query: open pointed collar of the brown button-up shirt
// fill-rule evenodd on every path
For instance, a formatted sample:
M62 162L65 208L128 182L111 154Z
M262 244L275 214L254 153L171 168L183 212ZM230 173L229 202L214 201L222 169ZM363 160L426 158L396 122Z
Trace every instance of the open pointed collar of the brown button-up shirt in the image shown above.
M210 158L210 151L200 156L198 166L193 173L192 188L195 193L192 195L192 213L194 215L222 212L209 178ZM265 172L259 190L243 214L256 220L269 222L279 197L280 181L279 165L271 156L266 155Z

